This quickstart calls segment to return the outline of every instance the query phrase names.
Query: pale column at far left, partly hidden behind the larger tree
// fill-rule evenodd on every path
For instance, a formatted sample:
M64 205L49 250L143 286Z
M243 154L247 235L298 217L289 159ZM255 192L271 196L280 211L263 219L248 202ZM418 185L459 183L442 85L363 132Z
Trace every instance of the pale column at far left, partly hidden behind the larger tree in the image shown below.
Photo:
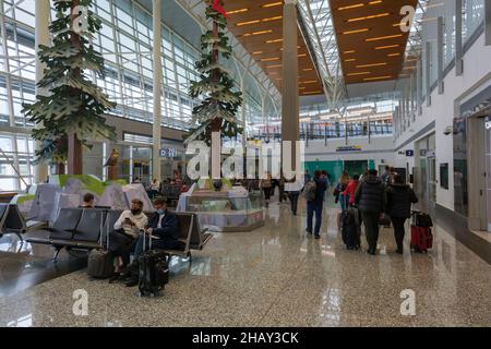
M35 47L36 47L36 96L47 96L49 91L37 87L37 83L45 75L45 64L39 60L39 45L49 46L49 0L35 1ZM36 128L43 128L41 123L37 123ZM41 143L36 142L36 151L40 149ZM48 165L39 164L34 167L34 182L43 183L48 178Z

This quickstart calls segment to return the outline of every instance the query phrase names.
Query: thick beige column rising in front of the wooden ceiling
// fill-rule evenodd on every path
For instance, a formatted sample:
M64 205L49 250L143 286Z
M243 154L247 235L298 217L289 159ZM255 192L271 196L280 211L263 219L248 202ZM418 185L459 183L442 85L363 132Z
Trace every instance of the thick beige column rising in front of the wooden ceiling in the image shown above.
M283 14L282 140L299 141L297 0L285 0ZM295 157L296 152L292 152ZM295 167L295 159L292 159Z

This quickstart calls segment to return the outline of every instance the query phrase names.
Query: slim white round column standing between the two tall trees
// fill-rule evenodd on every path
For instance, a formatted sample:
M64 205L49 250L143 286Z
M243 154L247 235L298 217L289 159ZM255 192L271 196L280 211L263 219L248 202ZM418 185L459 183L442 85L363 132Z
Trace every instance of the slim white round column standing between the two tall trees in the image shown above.
M161 144L161 0L153 0L154 19L154 147L152 178L160 180Z

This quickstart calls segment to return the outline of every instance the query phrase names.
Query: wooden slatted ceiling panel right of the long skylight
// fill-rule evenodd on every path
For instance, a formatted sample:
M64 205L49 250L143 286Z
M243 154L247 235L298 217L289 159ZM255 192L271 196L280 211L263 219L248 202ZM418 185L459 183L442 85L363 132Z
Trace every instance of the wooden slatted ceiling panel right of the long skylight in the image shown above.
M346 84L399 76L409 33L400 9L417 0L330 0Z

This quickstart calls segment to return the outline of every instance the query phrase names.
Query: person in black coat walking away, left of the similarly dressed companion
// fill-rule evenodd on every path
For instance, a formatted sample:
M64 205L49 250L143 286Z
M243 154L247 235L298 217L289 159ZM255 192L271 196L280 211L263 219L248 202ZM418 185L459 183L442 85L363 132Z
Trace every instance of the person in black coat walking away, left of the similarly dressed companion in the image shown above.
M355 204L361 212L369 244L368 253L372 255L376 253L379 219L381 213L385 212L386 201L385 185L378 174L376 170L370 170L355 193Z

